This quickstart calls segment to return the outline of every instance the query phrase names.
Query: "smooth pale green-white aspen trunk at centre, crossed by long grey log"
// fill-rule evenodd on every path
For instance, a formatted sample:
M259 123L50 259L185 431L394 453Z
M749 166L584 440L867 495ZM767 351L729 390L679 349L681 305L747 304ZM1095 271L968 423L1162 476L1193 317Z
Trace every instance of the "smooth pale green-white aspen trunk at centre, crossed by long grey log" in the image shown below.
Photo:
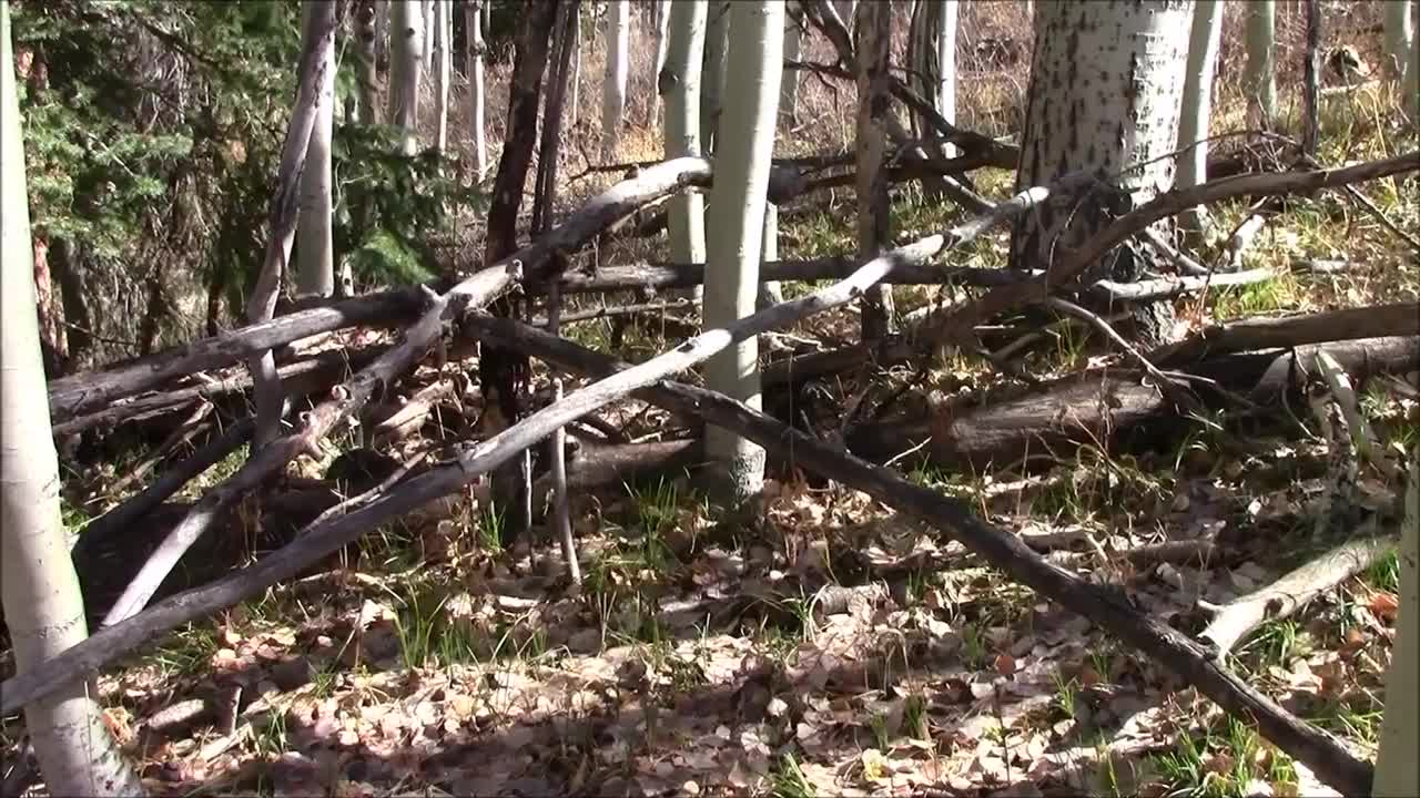
M727 67L724 129L716 180L710 189L709 258L706 261L704 325L724 327L754 312L760 287L764 206L774 159L780 78L784 71L784 3L740 0L731 6L730 34L736 58ZM760 408L760 358L754 338L720 352L706 364L706 385L751 408ZM706 453L724 464L721 490L728 504L760 493L764 450L740 436L710 426Z

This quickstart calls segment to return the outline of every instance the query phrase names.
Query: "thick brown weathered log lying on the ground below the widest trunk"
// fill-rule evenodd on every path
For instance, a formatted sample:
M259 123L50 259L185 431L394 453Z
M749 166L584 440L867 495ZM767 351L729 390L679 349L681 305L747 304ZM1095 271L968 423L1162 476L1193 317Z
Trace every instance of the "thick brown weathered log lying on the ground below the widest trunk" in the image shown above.
M1275 408L1284 392L1302 395L1318 351L1336 358L1348 373L1363 381L1376 373L1404 372L1420 362L1420 337L1365 338L1298 346L1289 351L1224 355L1189 369L1264 408ZM1211 405L1225 396L1194 381ZM1177 417L1173 403L1152 385L1119 368L1071 375L1038 392L978 410L863 425L848 437L848 449L866 460L883 461L922 447L923 457L949 469L1001 467L1039 454L1069 457L1082 443L1118 444L1149 420Z

